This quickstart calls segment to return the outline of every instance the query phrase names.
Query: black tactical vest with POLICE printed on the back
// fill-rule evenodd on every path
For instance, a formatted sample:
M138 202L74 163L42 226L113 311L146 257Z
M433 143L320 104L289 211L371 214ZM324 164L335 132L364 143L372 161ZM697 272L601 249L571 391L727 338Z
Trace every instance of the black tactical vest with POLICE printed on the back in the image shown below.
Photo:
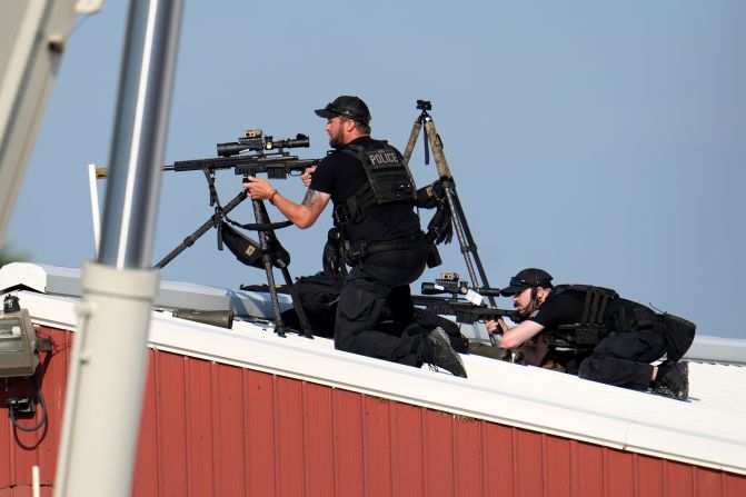
M335 225L362 221L366 210L374 205L415 203L417 187L397 149L386 141L376 140L366 146L350 143L341 151L362 163L368 181L344 203L335 206Z

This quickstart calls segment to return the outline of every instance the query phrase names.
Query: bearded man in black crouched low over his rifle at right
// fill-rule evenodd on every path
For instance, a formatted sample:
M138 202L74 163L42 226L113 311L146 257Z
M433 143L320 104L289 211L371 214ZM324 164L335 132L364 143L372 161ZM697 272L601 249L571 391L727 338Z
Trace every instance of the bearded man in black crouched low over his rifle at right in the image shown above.
M694 324L619 298L608 288L555 287L551 275L536 268L518 272L500 294L513 297L523 320L511 328L503 319L489 321L487 330L503 334L500 347L520 347L528 362L541 365L557 349L570 350L580 378L688 397L688 365L678 360L692 345ZM650 364L664 355L665 362Z

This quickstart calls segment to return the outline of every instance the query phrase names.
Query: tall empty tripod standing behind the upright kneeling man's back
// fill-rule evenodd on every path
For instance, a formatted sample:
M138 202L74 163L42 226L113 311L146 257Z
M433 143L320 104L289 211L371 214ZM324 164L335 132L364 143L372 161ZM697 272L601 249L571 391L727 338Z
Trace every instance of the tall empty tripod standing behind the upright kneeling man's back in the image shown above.
M458 199L458 193L456 192L456 183L454 182L454 176L450 173L450 168L446 161L446 156L442 151L442 142L440 141L440 136L435 129L435 122L428 110L432 110L432 106L427 100L417 100L417 109L422 112L417 117L409 135L409 141L407 142L407 148L404 152L405 162L409 163L409 158L411 152L415 149L417 143L417 138L419 132L425 126L425 163L430 163L430 153L428 149L432 149L432 155L435 156L435 165L438 169L438 176L440 177L440 187L444 192L444 197L448 207L450 209L451 222L454 230L456 231L456 237L458 238L458 243L461 248L461 254L464 254L464 260L466 261L466 269L469 271L469 278L471 279L471 286L475 288L489 288L489 282L487 281L487 275L485 274L485 268L481 265L481 259L479 259L479 254L477 252L477 243L474 241L471 236L471 230L469 225L466 221L466 215L464 213L464 208L461 202ZM477 271L475 272L475 268ZM478 277L477 277L478 276ZM481 279L481 284L479 282ZM493 307L496 307L495 297L488 296L489 304ZM489 339L493 345L496 345L495 338L490 335Z

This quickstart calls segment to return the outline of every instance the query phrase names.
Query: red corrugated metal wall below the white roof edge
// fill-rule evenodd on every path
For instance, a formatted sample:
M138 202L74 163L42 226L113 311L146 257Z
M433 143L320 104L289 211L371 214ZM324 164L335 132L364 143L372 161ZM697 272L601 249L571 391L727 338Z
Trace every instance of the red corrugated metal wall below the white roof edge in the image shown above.
M33 464L42 484L53 481L69 335L44 332L58 344L43 378L51 423L26 435L0 421L0 496L30 495ZM138 497L746 496L738 475L162 351L151 358Z

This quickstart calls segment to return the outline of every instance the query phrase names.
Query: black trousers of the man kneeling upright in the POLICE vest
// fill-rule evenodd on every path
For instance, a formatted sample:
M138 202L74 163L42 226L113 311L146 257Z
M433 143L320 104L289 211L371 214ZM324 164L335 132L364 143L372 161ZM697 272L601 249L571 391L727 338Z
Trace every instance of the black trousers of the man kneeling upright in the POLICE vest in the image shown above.
M425 242L407 250L371 254L347 276L339 295L335 347L339 350L419 367L422 337L414 325L409 284L420 277L427 260ZM394 320L395 335L377 328L384 307ZM402 331L412 325L411 332Z

